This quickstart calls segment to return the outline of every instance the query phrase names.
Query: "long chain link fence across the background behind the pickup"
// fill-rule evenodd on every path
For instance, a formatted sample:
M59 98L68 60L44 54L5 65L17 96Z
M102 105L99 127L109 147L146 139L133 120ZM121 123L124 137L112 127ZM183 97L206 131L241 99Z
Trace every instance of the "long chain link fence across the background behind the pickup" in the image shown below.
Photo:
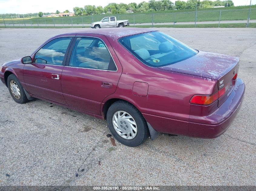
M238 10L191 11L175 13L114 14L129 20L130 27L256 27L256 8ZM52 18L0 19L2 28L90 27L105 15Z

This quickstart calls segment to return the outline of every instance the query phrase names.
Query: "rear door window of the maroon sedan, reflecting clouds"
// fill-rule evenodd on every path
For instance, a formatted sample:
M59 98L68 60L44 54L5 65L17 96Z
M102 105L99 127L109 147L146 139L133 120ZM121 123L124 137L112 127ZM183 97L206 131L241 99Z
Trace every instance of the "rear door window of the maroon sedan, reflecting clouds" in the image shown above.
M116 71L105 43L97 38L79 37L75 41L69 66Z

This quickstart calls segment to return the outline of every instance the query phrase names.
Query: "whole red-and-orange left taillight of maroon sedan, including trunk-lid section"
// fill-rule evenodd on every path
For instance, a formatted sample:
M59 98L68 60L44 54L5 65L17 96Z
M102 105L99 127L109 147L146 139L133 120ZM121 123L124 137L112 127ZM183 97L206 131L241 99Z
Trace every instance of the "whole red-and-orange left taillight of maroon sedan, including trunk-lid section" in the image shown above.
M214 101L218 100L221 96L223 96L226 91L228 91L228 85L211 95L194 95L191 98L190 103L196 105L210 105Z

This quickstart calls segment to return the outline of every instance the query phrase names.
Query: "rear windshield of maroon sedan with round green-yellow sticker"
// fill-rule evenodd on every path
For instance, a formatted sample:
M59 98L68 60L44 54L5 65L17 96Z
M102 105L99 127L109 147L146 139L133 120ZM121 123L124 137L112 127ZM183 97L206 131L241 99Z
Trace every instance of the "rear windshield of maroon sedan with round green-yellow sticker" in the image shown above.
M171 65L198 53L159 31L122 37L118 41L142 63L151 67Z

